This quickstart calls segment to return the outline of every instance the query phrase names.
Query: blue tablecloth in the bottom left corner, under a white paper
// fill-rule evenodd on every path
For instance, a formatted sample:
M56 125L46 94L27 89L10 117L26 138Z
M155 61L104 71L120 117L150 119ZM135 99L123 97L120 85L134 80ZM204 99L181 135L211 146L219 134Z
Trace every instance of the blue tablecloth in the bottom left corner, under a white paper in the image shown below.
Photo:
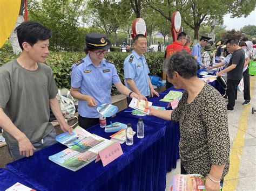
M14 173L4 168L0 169L0 190L6 190L12 185L15 185L17 182L22 183L29 188L33 188L28 182L15 175Z

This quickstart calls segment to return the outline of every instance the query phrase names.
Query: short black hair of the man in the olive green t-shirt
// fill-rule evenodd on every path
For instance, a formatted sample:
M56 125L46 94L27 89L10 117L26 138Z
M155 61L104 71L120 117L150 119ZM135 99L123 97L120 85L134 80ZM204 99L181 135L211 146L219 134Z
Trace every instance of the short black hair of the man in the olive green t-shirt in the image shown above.
M31 46L35 45L38 40L47 40L51 38L51 31L46 29L42 24L37 22L23 22L16 27L19 46L23 50L22 44L29 43Z

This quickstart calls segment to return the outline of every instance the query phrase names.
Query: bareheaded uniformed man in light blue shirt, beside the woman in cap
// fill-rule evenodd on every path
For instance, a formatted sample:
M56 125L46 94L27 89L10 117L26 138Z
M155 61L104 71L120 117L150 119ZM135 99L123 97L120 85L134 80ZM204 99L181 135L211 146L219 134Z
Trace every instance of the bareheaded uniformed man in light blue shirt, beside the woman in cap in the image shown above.
M149 67L147 66L143 53L147 50L147 39L143 34L138 34L133 39L134 50L124 60L125 86L146 100L149 95L159 94L154 90L149 78ZM129 105L131 98L127 97Z

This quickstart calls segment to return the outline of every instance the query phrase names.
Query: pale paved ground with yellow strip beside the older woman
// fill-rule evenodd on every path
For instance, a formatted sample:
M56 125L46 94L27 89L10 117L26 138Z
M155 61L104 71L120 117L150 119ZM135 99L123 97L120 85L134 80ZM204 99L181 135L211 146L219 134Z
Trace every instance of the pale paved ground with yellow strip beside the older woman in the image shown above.
M228 114L231 153L230 171L224 179L224 191L256 190L256 76L251 77L251 104L242 105L243 94L238 93L234 112ZM170 190L174 174L180 174L180 161L177 168L166 176L166 190Z

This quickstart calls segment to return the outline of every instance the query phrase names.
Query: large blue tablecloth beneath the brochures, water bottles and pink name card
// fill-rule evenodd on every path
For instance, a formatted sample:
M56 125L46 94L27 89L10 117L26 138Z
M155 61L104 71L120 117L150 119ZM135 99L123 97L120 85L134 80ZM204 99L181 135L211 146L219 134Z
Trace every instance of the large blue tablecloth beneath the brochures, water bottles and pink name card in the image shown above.
M137 131L136 118L117 116L111 121L131 123L133 130ZM171 126L171 122L168 123ZM167 159L170 158L170 147L166 147L174 140L166 134L171 135L169 131L177 129L150 121L144 121L144 124L145 137L134 136L132 146L122 144L124 154L105 167L101 161L92 162L72 172L55 164L48 157L66 148L59 143L36 152L32 157L11 162L7 167L38 190L165 190ZM105 133L99 125L88 131L104 138L113 134Z

